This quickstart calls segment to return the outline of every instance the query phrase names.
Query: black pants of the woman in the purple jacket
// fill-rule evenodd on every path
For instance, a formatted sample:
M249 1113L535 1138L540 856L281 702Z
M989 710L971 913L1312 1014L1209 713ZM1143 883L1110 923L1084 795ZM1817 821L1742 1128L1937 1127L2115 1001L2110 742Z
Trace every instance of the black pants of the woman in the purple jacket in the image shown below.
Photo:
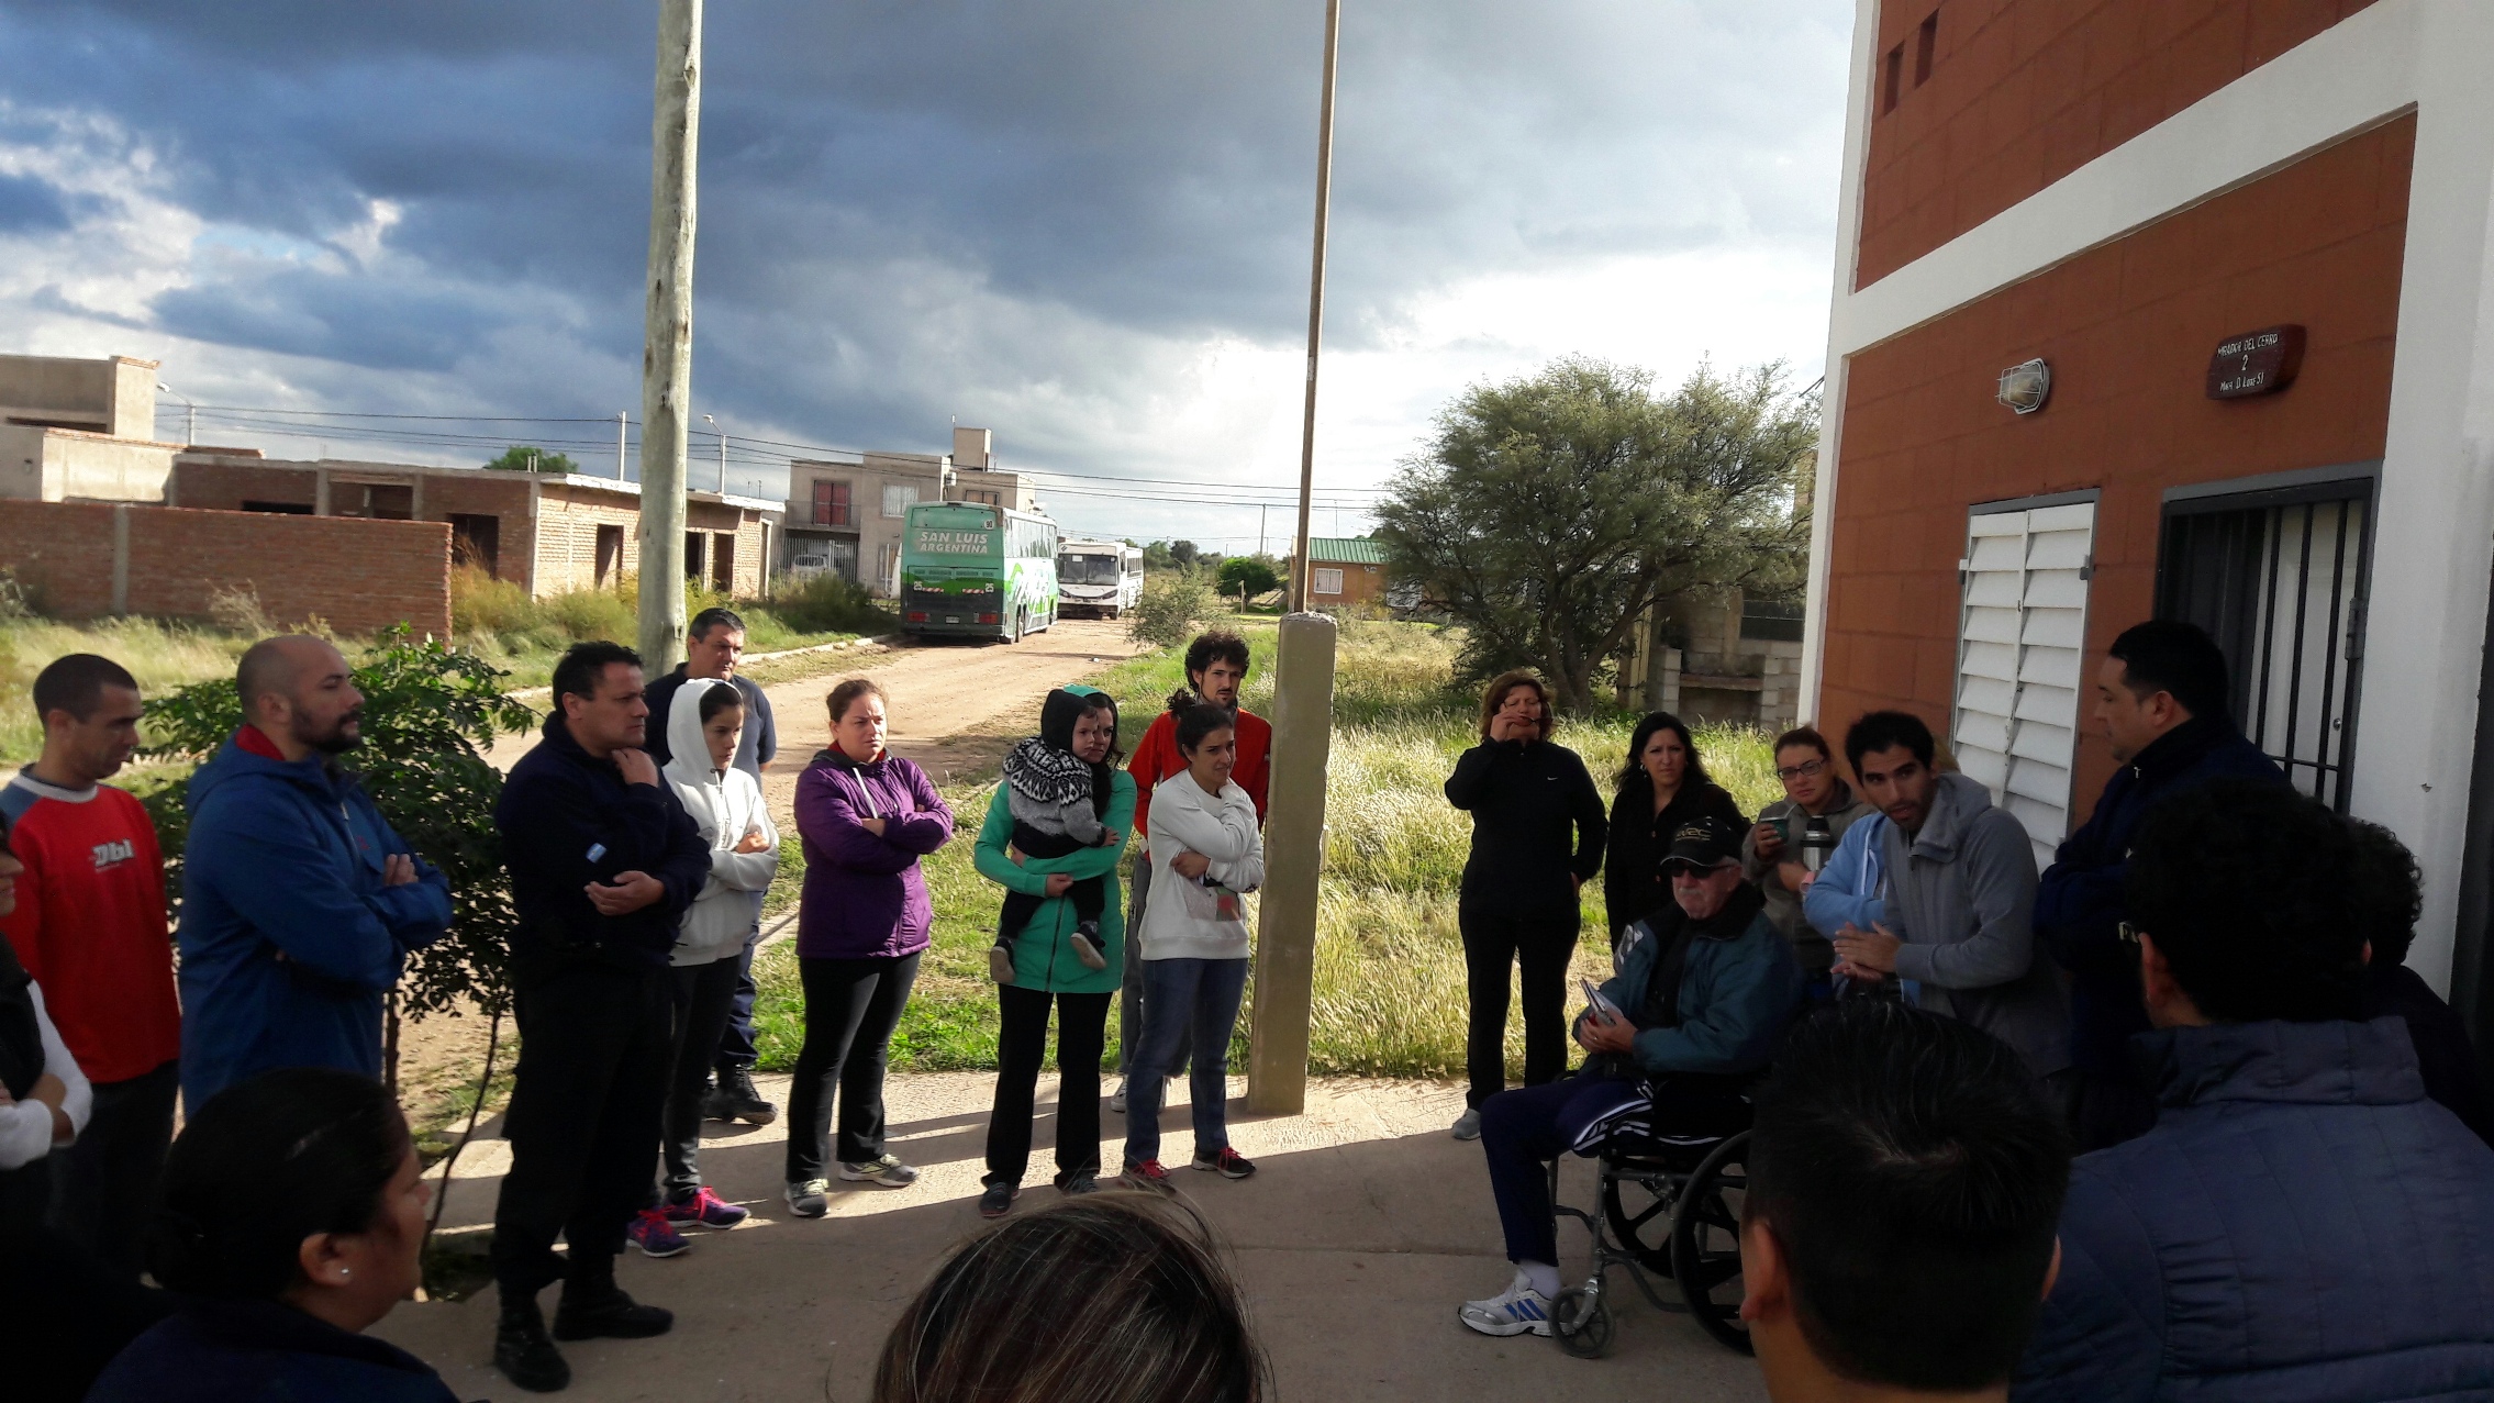
M806 984L806 1047L788 1087L788 1184L823 1179L833 1089L840 1096L840 1164L883 1159L883 1067L893 1059L893 1029L923 954L796 962Z

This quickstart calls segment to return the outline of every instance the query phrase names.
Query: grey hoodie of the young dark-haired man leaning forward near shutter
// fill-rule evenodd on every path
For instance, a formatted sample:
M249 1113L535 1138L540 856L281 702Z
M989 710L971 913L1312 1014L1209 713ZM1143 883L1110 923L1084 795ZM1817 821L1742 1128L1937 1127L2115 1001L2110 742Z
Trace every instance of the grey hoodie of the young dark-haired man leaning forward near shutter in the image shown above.
M2070 1064L2070 997L2035 944L2035 845L1965 775L1940 775L1923 832L1880 835L1888 930L1900 979L1923 1007L1975 1024L2025 1054L2038 1077Z

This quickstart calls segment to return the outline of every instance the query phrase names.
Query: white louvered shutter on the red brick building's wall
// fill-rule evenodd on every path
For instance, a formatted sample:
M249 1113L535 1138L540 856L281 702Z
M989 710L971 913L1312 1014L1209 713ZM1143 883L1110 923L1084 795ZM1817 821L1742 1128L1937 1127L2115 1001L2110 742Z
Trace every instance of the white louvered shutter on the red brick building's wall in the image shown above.
M2018 815L2035 865L2070 835L2095 503L1968 518L1958 623L1958 768Z

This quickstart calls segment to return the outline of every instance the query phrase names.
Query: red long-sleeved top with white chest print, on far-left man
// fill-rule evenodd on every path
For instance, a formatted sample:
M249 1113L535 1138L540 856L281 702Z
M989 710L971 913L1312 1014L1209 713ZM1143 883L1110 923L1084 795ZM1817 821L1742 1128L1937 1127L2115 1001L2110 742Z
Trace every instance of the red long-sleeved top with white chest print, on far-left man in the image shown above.
M112 785L60 790L20 773L0 787L25 862L0 935L42 984L45 1009L90 1082L127 1082L182 1054L155 825Z

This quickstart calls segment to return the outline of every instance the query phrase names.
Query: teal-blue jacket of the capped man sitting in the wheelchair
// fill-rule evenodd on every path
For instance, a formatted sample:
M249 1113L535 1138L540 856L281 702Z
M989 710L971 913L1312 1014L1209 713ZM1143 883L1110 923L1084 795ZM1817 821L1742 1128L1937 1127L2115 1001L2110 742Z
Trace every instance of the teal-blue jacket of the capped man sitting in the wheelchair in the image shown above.
M1801 1009L1806 977L1793 959L1793 942L1768 920L1756 887L1741 887L1733 900L1741 902L1738 910L1751 912L1738 935L1721 937L1701 927L1688 942L1681 992L1673 999L1681 1024L1641 1027L1631 1044L1636 1069L1646 1077L1763 1072ZM1654 917L1646 917L1629 922L1619 939L1619 974L1604 979L1601 997L1636 1019L1646 1007L1646 984L1671 947L1671 932L1656 932Z

